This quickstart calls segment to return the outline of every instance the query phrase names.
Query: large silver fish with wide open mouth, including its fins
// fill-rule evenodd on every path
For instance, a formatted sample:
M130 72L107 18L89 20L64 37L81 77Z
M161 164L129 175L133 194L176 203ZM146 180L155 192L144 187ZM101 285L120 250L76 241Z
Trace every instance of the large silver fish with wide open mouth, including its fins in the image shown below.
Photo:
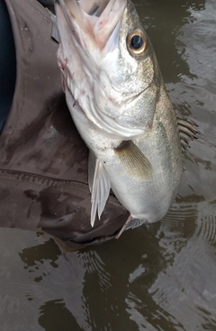
M130 0L58 0L56 13L62 86L90 150L91 224L110 188L130 211L121 232L157 222L175 198L182 149L197 130L176 117Z

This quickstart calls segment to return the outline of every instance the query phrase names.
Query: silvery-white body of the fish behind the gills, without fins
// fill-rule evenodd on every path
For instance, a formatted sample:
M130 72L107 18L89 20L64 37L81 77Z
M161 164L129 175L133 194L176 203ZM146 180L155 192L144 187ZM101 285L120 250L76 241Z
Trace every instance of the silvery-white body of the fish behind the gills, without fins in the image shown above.
M70 101L68 104L71 106L74 103ZM133 141L150 162L152 179L143 179L139 173L128 170L114 152L121 141L112 140L103 131L96 130L78 105L73 106L71 115L85 143L102 162L113 193L130 215L146 223L157 222L165 216L182 175L182 154L175 114L173 121L172 118L164 123L156 120L147 136Z

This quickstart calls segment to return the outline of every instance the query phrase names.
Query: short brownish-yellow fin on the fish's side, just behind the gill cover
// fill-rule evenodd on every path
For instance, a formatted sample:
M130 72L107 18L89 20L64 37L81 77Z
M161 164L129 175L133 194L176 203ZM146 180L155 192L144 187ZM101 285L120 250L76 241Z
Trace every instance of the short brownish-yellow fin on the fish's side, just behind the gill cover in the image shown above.
M114 149L114 152L121 159L124 170L130 176L145 180L152 179L152 166L134 143L123 141Z

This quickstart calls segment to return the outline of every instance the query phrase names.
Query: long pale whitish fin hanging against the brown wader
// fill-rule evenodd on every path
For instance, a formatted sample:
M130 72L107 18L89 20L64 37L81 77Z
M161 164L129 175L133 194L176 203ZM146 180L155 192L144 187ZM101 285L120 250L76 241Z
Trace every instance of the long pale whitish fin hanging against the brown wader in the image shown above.
M91 225L94 226L96 212L100 219L103 208L105 207L106 200L110 194L110 179L104 170L103 164L98 159L94 158L94 155L89 155L89 188L92 192L92 210L91 210ZM93 169L94 167L94 169ZM94 177L93 177L94 173Z

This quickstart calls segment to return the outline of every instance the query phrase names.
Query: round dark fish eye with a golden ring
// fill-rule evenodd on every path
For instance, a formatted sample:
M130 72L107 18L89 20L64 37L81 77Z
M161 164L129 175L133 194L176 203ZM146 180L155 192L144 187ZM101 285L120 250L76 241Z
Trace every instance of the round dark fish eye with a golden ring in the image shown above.
M130 32L127 38L127 47L132 55L142 55L147 48L147 38L144 33L139 29Z

